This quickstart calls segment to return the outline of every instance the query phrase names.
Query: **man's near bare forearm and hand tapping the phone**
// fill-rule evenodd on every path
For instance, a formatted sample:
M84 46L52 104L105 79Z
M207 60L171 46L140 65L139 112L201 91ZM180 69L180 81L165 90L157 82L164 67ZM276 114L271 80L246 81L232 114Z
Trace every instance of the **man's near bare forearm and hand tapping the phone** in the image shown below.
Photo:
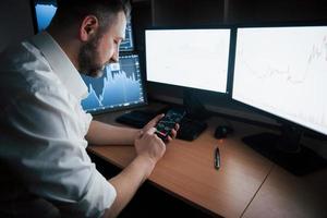
M119 214L135 194L137 187L150 175L157 161L164 156L166 145L155 134L155 126L162 117L164 114L157 116L142 130L134 132L136 135L134 142L136 157L121 173L110 179L110 183L117 191L117 198L110 209L106 210L105 217L117 216ZM168 141L175 137L178 129L179 125L177 124Z

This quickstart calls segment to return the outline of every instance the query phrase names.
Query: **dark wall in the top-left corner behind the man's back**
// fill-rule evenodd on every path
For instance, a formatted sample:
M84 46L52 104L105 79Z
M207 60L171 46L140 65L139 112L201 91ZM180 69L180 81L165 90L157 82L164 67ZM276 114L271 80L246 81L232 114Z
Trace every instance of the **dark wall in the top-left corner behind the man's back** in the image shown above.
M1 0L0 29L0 51L33 35L29 0Z

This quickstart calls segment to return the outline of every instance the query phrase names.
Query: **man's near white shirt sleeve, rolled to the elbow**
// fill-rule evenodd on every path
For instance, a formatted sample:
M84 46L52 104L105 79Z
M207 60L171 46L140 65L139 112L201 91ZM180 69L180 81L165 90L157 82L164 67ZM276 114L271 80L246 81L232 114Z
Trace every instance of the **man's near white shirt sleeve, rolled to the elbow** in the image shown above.
M100 217L117 193L85 150L92 117L77 105L53 86L19 94L4 109L5 161L31 193L66 217Z

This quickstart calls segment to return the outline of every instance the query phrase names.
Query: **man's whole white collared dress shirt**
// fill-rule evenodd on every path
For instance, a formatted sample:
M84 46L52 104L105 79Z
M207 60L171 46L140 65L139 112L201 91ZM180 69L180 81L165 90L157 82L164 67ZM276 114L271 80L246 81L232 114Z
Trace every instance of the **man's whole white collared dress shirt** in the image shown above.
M111 206L116 190L85 149L86 95L80 73L46 32L0 55L0 216L24 207L41 211L29 201L37 197L63 217L99 217Z

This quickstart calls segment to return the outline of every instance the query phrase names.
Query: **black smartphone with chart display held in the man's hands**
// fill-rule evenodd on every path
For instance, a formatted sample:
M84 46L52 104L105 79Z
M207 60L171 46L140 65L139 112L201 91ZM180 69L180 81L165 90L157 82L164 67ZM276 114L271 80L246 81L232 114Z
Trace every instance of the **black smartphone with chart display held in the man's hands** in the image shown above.
M169 109L165 117L159 120L156 125L156 134L164 141L167 142L168 136L171 135L171 130L175 126L177 123L181 122L181 120L186 114L184 109L172 108Z

